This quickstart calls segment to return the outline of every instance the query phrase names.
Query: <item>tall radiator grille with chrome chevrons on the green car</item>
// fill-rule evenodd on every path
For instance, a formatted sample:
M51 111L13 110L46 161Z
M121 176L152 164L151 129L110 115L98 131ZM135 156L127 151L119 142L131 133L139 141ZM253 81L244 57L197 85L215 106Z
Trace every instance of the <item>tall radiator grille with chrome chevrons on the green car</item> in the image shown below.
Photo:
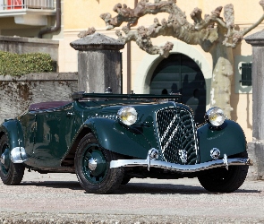
M163 108L156 114L158 142L163 157L168 162L195 164L197 140L195 125L185 108Z

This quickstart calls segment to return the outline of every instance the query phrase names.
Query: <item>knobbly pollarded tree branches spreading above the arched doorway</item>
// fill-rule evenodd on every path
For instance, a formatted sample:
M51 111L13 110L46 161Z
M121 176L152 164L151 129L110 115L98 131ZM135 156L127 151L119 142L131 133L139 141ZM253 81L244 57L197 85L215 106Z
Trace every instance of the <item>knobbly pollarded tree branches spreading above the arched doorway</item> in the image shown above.
M127 26L123 27L124 36L120 31L117 31L118 39L124 43L135 41L141 49L149 54L160 54L166 56L168 46L164 48L153 46L151 38L158 36L171 36L176 39L191 45L200 45L204 51L209 52L210 48L216 44L216 40L222 39L222 44L226 47L236 47L243 39L243 35L254 29L264 20L264 14L258 22L250 28L243 31L234 30L234 6L227 4L224 8L224 19L220 16L223 7L219 6L211 14L206 14L204 19L201 16L201 10L195 8L191 17L193 24L187 22L186 15L177 7L176 0L154 0L154 4L149 3L149 0L141 0L134 9L127 7L126 4L115 4L114 11L117 14L112 18L110 13L103 13L100 17L106 22L106 29L113 29L120 26L123 22L128 22ZM260 1L260 5L264 10L264 0ZM167 21L163 19L158 22L154 19L154 23L149 28L139 27L137 30L130 30L131 24L145 14L168 13ZM217 27L214 28L214 25ZM165 50L164 50L165 49Z

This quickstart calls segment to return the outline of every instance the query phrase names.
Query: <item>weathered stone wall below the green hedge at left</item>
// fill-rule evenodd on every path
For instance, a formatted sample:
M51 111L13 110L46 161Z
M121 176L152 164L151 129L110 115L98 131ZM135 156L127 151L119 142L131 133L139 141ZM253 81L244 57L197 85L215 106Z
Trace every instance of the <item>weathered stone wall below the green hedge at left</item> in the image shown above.
M0 75L0 124L20 115L30 104L71 100L78 89L77 73L31 73L21 77Z

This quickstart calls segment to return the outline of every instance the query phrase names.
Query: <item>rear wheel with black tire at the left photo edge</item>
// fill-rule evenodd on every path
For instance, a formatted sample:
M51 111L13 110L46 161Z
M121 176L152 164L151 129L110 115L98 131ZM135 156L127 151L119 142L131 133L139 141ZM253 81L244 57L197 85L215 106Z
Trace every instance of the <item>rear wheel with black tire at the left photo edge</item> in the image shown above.
M6 152L6 150L9 151ZM4 151L5 155L8 155L8 159L5 164L0 162L0 177L4 185L19 185L24 176L25 167L23 164L12 162L8 138L5 134L0 139L0 157Z

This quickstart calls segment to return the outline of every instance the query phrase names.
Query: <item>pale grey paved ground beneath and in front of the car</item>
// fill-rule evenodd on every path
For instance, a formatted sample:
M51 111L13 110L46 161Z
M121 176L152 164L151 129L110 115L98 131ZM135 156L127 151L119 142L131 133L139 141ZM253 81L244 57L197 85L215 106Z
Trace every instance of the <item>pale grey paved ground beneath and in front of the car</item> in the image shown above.
M72 174L26 172L21 185L0 183L2 223L264 223L264 181L212 194L197 179L134 178L98 195Z

